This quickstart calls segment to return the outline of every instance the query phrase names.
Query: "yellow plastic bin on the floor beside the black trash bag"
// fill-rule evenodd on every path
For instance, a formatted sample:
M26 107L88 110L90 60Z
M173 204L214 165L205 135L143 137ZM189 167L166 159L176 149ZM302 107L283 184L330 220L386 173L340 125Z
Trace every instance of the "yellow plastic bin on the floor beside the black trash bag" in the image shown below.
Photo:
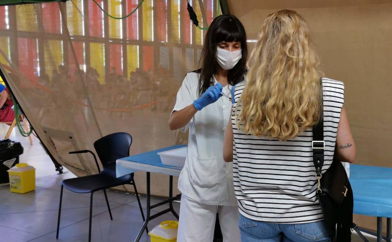
M9 188L13 193L35 190L35 168L26 163L16 164L8 170Z

